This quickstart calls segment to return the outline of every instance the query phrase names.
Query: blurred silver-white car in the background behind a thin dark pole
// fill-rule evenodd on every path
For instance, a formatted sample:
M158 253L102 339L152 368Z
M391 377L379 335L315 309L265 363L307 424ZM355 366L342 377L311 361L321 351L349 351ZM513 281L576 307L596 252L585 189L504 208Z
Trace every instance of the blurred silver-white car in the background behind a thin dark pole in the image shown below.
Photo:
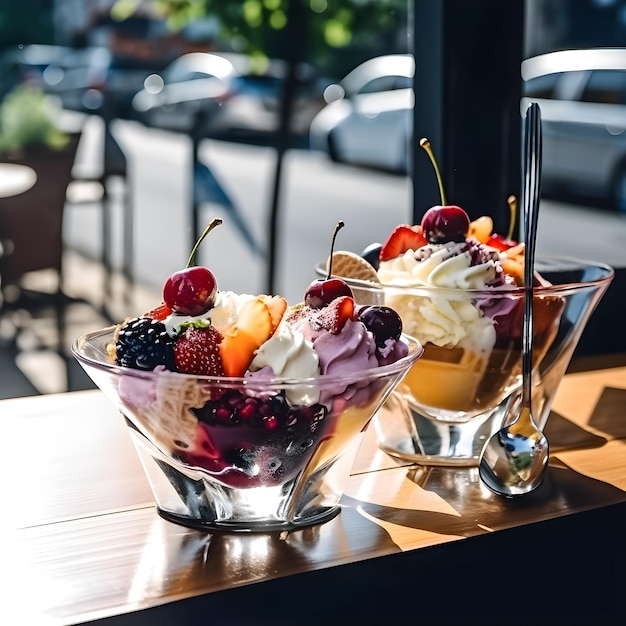
M205 137L264 135L278 128L286 64L237 53L191 52L149 76L132 100L146 126ZM308 132L321 108L312 68L299 68L292 129Z

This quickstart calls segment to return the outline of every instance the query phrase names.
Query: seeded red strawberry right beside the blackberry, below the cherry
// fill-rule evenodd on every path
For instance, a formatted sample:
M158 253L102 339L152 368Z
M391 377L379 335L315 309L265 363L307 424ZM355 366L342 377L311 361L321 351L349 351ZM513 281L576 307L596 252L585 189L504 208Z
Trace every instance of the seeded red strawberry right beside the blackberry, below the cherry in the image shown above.
M222 334L202 322L190 322L182 326L183 330L174 344L176 369L199 376L223 376L224 366L220 355Z

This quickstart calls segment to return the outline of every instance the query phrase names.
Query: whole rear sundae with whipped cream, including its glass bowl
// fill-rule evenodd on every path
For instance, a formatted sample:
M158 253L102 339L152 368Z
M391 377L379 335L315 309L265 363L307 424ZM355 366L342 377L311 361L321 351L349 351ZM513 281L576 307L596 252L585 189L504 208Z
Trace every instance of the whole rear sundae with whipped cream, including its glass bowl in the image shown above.
M361 304L389 306L424 347L422 359L376 420L380 445L423 465L474 466L486 441L521 401L525 244L471 221L448 204L430 141L441 204L419 224L398 224L362 254L333 252L325 266ZM317 268L323 273L323 268ZM543 429L558 384L589 317L613 279L611 267L575 258L539 258L533 272L533 415Z

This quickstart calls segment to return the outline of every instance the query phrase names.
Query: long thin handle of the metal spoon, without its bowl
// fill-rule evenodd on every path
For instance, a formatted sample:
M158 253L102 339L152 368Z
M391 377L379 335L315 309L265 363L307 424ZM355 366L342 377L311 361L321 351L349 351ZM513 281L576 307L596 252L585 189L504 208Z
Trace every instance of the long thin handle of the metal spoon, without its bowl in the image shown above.
M533 102L527 112L524 125L524 327L522 332L522 404L530 409L533 360L533 281L535 273L535 247L539 218L541 178L541 111Z

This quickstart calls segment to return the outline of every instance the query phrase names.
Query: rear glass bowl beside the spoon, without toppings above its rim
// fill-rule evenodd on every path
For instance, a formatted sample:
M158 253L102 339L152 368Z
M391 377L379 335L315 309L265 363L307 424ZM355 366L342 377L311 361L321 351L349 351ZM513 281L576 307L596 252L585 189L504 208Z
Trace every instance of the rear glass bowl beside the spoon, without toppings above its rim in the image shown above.
M535 289L533 397L544 428L558 384L614 272L564 257L539 258L536 269L551 283ZM362 304L392 306L405 332L424 346L374 422L382 449L423 465L476 465L485 441L519 401L524 289L345 280Z

